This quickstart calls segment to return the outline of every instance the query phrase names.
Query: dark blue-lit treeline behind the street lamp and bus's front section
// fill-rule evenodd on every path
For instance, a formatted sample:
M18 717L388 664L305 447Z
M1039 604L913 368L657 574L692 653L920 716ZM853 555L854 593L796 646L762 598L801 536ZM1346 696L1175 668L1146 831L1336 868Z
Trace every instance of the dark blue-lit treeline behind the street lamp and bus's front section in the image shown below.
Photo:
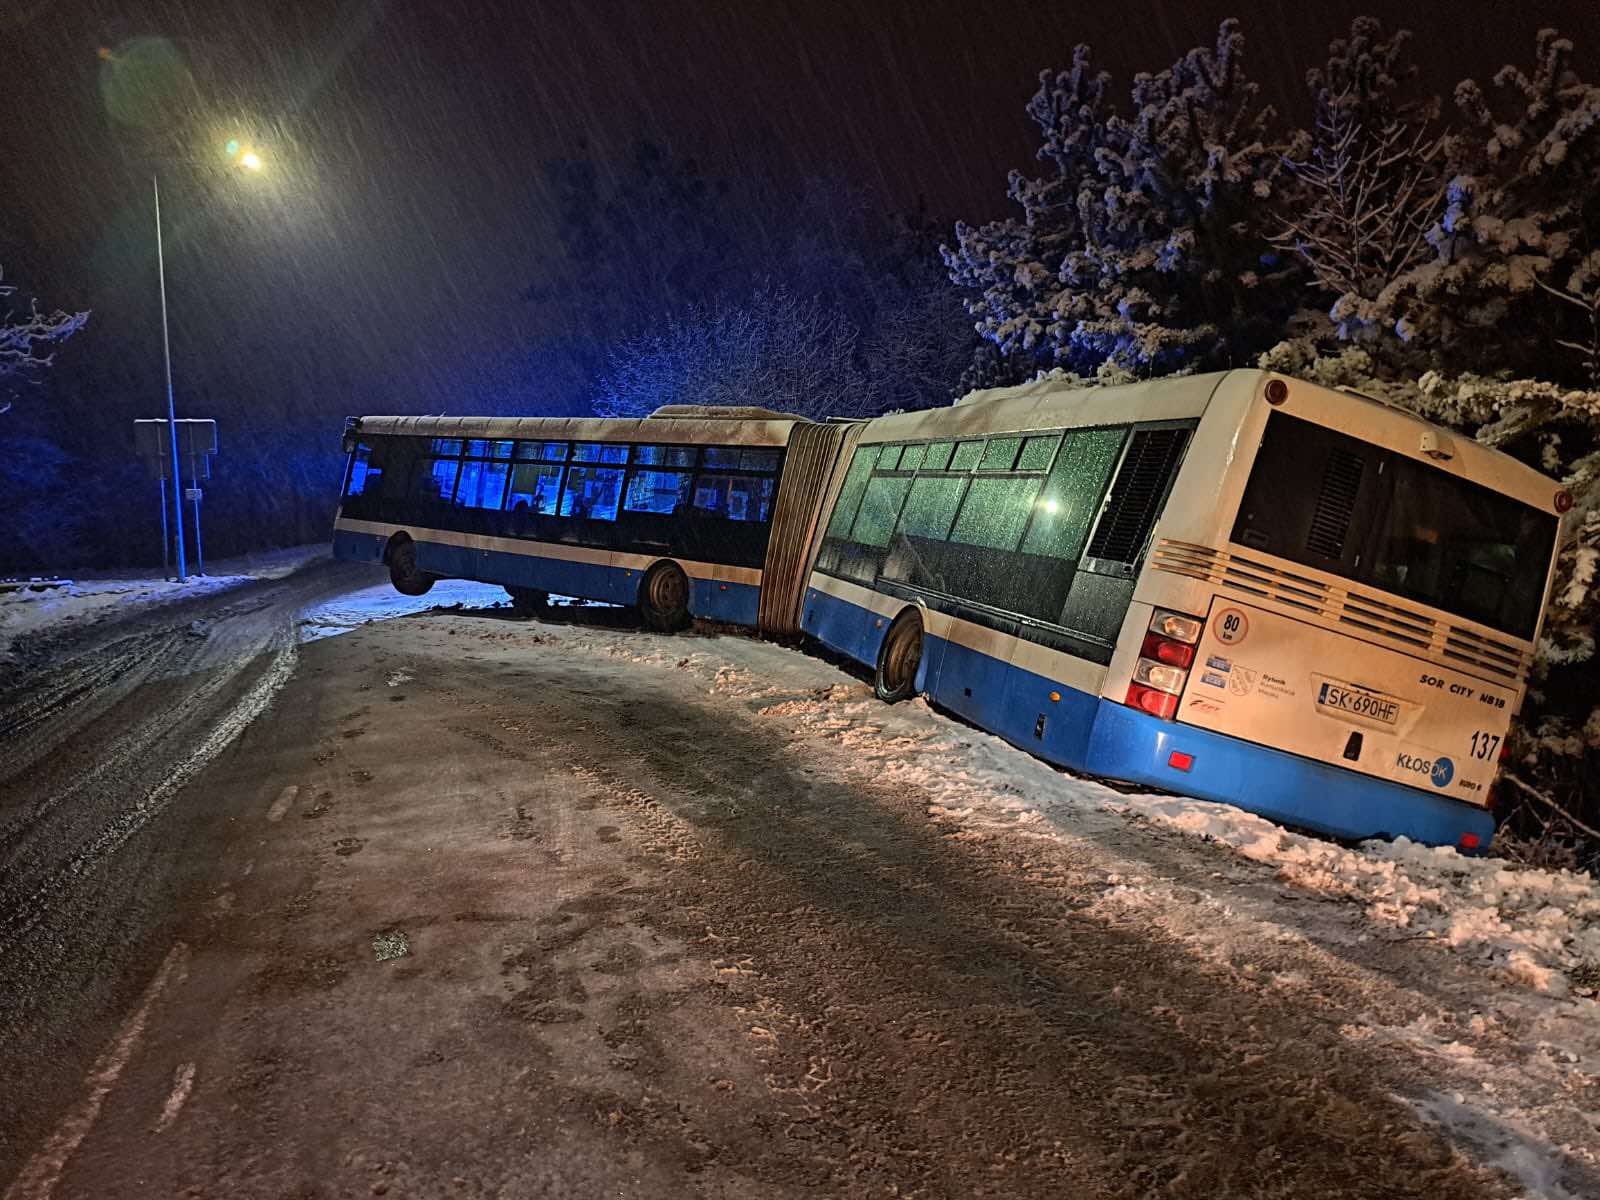
M405 390L363 376L341 314L314 298L280 299L298 310L293 325L227 326L186 304L178 277L179 416L219 422L208 555L326 536L347 414L637 414L734 400L859 414L947 402L971 358L971 322L939 264L944 230L925 213L878 211L838 181L784 190L718 178L648 142L621 163L584 152L541 174L534 216L552 224L550 253L506 301L526 338L488 352L464 338ZM203 259L227 232L195 230L176 258ZM158 555L158 485L131 437L134 418L165 406L154 301L136 328L91 315L0 418L0 571Z

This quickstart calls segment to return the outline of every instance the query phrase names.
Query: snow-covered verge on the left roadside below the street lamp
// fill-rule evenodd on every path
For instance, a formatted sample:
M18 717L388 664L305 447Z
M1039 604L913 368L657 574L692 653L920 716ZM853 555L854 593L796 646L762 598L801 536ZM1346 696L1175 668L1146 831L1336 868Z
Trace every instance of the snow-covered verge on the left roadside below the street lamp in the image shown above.
M282 579L328 554L326 544L294 546L208 563L205 576L187 584L150 576L75 574L62 587L0 592L0 661L11 658L22 638L67 627L120 621L134 611L216 595L256 579Z

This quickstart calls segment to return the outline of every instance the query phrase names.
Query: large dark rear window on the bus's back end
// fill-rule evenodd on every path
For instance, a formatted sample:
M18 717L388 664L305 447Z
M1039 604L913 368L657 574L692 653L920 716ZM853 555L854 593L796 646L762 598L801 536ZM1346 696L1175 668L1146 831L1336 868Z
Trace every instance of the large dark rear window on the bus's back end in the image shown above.
M1272 413L1234 541L1531 638L1555 530L1510 496Z

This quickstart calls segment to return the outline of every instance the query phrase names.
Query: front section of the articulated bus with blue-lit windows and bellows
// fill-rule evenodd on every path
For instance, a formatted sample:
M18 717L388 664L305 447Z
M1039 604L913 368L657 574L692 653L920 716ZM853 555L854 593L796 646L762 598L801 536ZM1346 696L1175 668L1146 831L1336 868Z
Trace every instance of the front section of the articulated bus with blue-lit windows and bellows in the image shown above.
M842 437L738 408L352 418L333 549L387 565L410 595L478 579L525 611L555 592L635 605L659 630L709 618L794 632Z

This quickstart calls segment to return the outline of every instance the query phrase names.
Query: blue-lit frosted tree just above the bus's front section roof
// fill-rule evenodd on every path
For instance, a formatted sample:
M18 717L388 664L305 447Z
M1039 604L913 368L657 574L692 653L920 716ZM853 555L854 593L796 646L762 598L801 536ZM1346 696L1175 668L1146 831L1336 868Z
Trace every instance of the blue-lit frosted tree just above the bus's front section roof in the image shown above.
M742 405L800 416L862 416L856 328L837 307L763 285L691 306L611 352L597 387L600 416L662 405Z

